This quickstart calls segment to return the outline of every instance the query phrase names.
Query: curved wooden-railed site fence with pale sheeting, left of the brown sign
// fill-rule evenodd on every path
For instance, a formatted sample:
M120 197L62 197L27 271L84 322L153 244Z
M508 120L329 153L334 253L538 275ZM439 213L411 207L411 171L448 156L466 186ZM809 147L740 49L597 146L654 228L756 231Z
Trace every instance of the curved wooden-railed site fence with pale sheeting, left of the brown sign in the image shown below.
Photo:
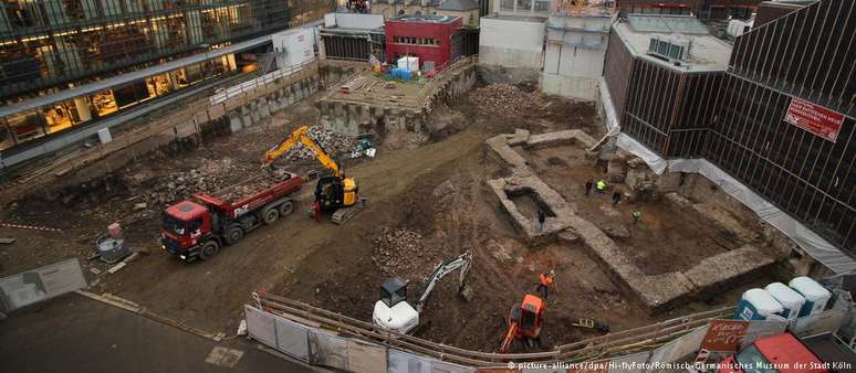
M384 330L370 322L283 297L259 292L253 295L253 299L255 305L244 308L252 338L309 363L352 371L355 370L351 369L351 354L346 351L352 349L348 343L355 341L375 347L378 350L373 351L378 355L377 351L385 351L385 366L392 366L394 361L407 360L410 361L408 364L449 365L443 369L471 372L476 367L504 367L510 361L574 363L630 355L656 349L707 326L711 320L733 313L733 308L718 309L557 345L552 351L500 354L460 349ZM400 359L395 360L396 356ZM377 359L373 363L378 363L380 358L373 359ZM345 362L347 366L343 366Z

